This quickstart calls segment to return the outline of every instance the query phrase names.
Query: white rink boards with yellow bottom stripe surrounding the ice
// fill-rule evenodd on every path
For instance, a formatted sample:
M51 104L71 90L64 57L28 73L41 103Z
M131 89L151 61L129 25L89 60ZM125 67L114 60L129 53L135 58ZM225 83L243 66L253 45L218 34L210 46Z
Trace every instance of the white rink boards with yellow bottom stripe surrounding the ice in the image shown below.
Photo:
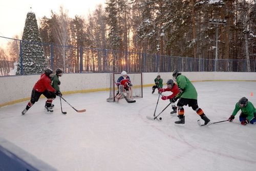
M200 80L256 80L256 73L251 72L182 72L190 81ZM157 75L161 75L163 82L172 79L172 73L143 73L143 85L154 84ZM0 104L13 100L28 98L40 75L23 75L0 77ZM76 73L63 74L61 92L107 89L110 87L109 73Z

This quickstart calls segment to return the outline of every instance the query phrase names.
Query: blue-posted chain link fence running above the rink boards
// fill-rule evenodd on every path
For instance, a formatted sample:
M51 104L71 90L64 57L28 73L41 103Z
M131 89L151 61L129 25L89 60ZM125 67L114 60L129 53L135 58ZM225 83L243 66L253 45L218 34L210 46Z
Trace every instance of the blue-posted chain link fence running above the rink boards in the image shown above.
M0 38L7 38L1 37ZM17 65L24 55L22 41L7 38L17 45L12 47L17 54L2 52L0 55L0 75L16 75ZM38 44L36 42L27 42ZM195 59L179 56L123 52L106 49L81 48L41 44L44 49L48 67L52 70L61 68L65 73L115 73L122 72L255 72L256 60L236 59ZM10 49L10 48L9 48ZM11 60L15 59L15 61ZM20 61L20 62L18 62ZM31 61L37 65L36 60ZM23 74L21 71L20 74Z

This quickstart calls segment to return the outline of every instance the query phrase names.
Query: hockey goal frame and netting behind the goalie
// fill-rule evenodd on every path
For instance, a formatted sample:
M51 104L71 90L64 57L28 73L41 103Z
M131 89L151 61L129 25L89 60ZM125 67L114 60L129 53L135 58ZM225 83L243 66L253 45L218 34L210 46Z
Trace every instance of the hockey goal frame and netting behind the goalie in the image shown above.
M121 76L121 73L111 73L110 74L110 97L106 101L115 101L115 95L118 91L117 79ZM142 92L142 73L127 73L130 77L131 83L133 84L133 97L143 97Z

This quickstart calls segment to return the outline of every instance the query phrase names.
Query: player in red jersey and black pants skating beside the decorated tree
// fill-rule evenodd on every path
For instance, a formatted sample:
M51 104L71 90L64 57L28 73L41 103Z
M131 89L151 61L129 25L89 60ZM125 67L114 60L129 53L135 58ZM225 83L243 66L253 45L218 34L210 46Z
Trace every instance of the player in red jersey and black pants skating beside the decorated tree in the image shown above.
M51 86L50 77L52 77L52 74L53 71L51 69L46 69L45 73L41 74L40 79L35 83L35 86L32 90L30 101L28 102L26 108L22 111L23 115L26 114L26 112L36 101L38 101L41 94L43 94L47 98L45 105L46 112L53 112L53 110L51 109L52 100L54 95L58 95L59 92L56 92L56 90L53 89Z

